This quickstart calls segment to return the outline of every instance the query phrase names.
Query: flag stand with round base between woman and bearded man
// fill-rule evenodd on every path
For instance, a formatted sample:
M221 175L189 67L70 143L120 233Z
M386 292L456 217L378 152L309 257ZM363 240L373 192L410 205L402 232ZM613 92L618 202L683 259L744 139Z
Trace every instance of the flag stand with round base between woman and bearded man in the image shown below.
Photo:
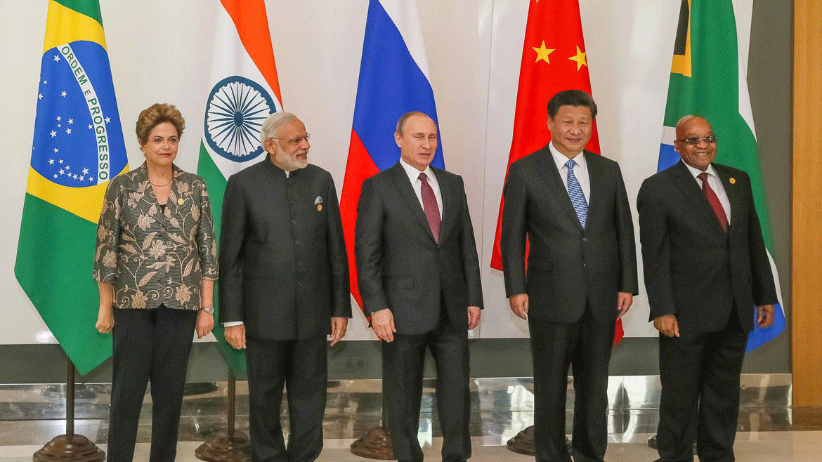
M252 460L251 441L244 432L234 428L237 377L229 367L228 407L229 422L226 430L220 430L194 450L199 460L206 462L248 462Z

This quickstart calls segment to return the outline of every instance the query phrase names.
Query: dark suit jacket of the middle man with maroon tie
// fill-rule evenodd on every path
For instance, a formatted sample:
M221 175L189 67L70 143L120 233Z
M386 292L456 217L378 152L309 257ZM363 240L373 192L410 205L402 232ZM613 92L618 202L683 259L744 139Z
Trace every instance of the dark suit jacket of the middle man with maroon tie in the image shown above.
M442 196L439 244L399 163L363 182L357 206L354 255L363 312L390 308L399 334L433 330L441 294L455 330L468 329L469 306L483 307L462 178L433 171Z

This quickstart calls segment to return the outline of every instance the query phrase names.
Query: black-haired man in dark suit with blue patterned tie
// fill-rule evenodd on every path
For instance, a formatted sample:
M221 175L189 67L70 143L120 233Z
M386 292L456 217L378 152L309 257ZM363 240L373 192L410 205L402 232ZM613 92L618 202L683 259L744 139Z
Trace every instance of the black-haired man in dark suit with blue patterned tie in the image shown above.
M614 326L637 293L634 227L619 165L584 150L597 115L590 95L561 91L547 112L551 141L511 164L506 178L506 296L529 322L537 460L570 461L565 404L573 364L571 450L576 462L601 462Z

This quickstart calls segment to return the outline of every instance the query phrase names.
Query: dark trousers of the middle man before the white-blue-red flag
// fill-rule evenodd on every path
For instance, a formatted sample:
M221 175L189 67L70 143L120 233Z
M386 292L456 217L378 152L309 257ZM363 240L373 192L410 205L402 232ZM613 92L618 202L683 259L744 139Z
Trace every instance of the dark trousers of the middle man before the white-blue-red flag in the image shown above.
M382 342L382 392L386 395L394 455L400 461L423 460L417 435L426 348L431 350L436 363L442 460L464 462L471 456L468 332L455 330L445 310L431 332L395 334L393 342Z

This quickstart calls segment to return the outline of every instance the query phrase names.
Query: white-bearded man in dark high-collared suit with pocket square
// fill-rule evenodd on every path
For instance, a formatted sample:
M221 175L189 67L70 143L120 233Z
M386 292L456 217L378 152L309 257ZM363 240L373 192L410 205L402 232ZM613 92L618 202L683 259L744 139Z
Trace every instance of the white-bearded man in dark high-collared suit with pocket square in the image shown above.
M260 135L268 156L225 188L219 318L229 344L247 347L252 460L309 461L322 449L326 335L337 343L351 316L348 258L334 181L308 164L305 126L279 112Z

